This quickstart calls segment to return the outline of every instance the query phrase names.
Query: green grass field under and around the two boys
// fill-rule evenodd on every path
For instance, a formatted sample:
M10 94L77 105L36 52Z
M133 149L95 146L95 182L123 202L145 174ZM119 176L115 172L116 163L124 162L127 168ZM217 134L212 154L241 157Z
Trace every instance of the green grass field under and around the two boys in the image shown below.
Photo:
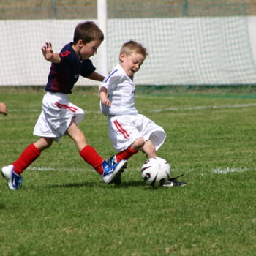
M0 166L30 143L42 90L1 89ZM80 128L108 158L97 90L70 101L86 110ZM165 128L159 157L187 187L143 184L142 153L129 159L122 184L106 185L62 138L10 191L0 179L0 255L256 255L256 93L241 89L138 90L141 113Z

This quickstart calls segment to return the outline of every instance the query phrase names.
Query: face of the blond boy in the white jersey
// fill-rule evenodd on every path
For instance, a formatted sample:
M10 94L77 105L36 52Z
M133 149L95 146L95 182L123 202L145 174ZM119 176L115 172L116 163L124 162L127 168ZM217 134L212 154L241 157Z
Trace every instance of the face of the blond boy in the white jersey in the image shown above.
M145 57L140 53L131 53L129 55L120 53L120 65L130 78L140 69L144 59Z

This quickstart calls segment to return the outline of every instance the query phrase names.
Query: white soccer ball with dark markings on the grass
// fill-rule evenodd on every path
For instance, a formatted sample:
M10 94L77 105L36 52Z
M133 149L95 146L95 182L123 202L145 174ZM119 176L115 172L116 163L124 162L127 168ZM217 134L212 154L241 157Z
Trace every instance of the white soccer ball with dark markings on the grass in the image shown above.
M160 187L170 178L170 165L160 157L149 158L141 167L141 176L147 185Z

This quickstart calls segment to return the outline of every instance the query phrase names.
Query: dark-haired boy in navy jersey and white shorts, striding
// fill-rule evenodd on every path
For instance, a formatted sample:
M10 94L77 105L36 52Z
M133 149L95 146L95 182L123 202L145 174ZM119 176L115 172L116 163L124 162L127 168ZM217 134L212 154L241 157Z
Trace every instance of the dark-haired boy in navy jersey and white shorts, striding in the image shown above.
M83 110L69 102L67 95L79 75L92 80L102 81L104 77L95 72L95 67L89 59L97 53L104 35L99 27L91 22L79 23L75 28L73 42L69 42L60 53L53 53L50 42L42 47L42 54L52 64L42 99L42 113L34 127L34 135L39 140L23 151L18 159L1 169L8 187L17 190L22 182L21 173L31 165L41 152L49 148L53 141L59 141L61 136L69 135L74 140L80 156L97 170L103 181L110 184L113 178L125 167L126 160L112 165L97 154L97 151L86 142L86 136L79 129L78 123L83 120Z

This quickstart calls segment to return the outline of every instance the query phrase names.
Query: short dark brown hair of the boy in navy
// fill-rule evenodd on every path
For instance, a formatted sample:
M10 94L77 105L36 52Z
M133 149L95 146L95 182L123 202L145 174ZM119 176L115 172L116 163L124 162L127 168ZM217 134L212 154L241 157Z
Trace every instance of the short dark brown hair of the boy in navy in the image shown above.
M76 44L78 40L82 40L84 44L94 40L102 42L104 34L93 21L85 21L75 27L73 42Z

